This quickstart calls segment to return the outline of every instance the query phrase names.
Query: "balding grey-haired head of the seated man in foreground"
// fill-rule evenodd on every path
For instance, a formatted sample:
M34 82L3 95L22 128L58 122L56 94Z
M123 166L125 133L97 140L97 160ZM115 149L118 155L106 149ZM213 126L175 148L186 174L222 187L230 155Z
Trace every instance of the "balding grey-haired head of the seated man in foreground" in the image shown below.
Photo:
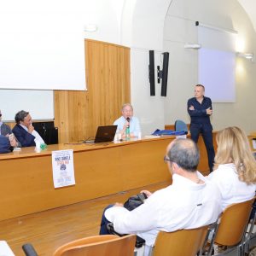
M171 163L176 163L187 172L195 172L199 164L200 154L197 145L188 138L172 141L167 147L167 155Z

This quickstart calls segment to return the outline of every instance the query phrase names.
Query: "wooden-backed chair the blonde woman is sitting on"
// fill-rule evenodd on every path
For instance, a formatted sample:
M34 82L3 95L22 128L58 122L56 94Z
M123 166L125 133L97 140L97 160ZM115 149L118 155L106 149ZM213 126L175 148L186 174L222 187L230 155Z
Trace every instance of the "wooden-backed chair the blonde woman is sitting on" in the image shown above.
M209 254L212 252L213 243L218 246L225 246L228 253L238 249L239 255L244 255L245 234L248 219L252 211L254 198L249 201L236 203L227 207L219 218L219 224L214 236ZM211 254L210 254L211 255Z

